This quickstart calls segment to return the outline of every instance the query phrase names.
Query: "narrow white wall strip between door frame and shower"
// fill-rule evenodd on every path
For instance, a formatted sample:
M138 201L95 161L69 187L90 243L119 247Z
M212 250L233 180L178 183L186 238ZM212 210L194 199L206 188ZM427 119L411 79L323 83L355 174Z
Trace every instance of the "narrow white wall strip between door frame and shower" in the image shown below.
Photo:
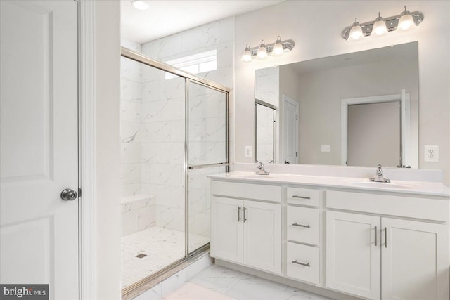
M94 298L120 299L120 3L94 4Z

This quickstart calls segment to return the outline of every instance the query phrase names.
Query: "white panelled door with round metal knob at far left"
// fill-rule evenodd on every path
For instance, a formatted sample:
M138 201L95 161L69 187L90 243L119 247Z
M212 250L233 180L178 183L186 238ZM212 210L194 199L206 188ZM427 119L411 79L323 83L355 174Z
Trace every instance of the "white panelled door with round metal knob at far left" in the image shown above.
M0 11L1 283L78 299L77 2Z

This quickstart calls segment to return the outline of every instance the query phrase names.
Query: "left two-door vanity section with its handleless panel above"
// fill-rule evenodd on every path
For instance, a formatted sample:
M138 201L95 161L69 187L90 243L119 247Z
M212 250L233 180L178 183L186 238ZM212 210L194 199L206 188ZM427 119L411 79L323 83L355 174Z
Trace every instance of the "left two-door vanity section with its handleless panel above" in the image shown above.
M252 194L251 188L268 193ZM281 201L281 187L213 181L212 194L211 256L281 273L281 204L260 201L261 197Z

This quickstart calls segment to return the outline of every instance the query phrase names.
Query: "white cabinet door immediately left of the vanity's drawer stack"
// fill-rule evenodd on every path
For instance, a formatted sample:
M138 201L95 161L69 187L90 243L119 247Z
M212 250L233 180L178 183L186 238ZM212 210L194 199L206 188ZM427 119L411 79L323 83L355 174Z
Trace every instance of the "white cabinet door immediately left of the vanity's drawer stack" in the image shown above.
M281 273L281 205L244 201L244 209L243 263Z

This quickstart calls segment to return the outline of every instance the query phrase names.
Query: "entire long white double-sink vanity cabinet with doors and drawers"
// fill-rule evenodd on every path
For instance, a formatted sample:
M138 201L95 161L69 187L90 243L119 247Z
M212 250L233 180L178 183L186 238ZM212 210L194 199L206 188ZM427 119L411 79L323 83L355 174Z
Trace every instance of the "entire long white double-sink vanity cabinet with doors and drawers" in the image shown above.
M219 265L332 299L449 299L450 190L211 177L210 252Z

